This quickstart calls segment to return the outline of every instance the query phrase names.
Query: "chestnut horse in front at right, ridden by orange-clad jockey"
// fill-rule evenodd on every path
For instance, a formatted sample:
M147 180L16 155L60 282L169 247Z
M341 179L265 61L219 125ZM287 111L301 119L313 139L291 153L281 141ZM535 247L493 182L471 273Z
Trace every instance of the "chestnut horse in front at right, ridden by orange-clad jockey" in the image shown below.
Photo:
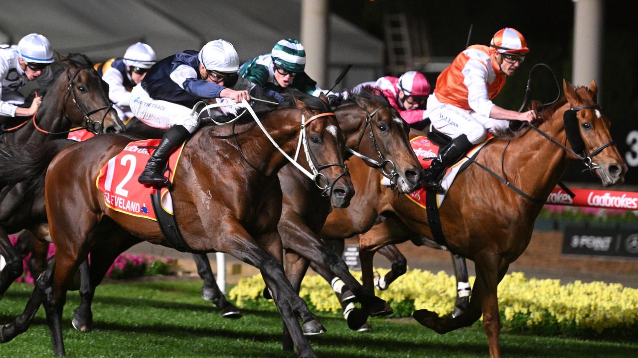
M540 111L540 131L524 131L511 141L489 142L477 157L476 165L470 165L457 177L440 207L443 245L475 262L477 278L470 307L454 318L438 317L427 310L417 310L413 317L438 333L447 333L469 326L483 315L491 357L500 357L498 283L509 264L523 254L530 242L535 219L568 161L584 162L605 187L622 183L627 171L612 142L609 119L596 103L595 82L589 88L574 88L563 82L563 89L565 97ZM582 138L580 149L574 144L578 138ZM563 143L568 143L567 147ZM479 164L496 173L501 173L502 166L510 185L527 197L502 185L495 174ZM433 236L425 210L408 197L397 196L382 187L378 173L364 164L353 162L350 169L359 195L349 209L332 211L321 234L344 238L364 233L379 214L387 216L372 231L360 236L364 284L371 287L371 259L376 248L405 240L424 245L420 238Z

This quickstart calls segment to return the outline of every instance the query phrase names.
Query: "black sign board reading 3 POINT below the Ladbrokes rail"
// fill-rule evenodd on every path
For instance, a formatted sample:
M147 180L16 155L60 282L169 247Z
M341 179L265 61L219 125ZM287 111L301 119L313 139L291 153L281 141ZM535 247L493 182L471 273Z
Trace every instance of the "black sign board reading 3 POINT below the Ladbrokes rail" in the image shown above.
M566 226L563 233L563 254L638 259L638 229Z

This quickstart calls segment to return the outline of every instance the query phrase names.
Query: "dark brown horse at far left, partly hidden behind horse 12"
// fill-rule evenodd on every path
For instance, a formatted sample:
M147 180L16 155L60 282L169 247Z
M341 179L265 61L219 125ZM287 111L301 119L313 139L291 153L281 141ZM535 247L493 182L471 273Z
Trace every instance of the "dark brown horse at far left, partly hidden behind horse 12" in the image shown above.
M101 80L91 61L82 54L69 54L68 57L61 57L61 64L63 69L56 74L57 78L43 97L38 113L33 118L7 118L6 128L0 132L0 159L5 162L5 165L0 166L3 175L20 174L8 168L13 161L8 154L10 148L25 144L36 148L44 141L66 138L71 125L79 125L96 133L124 130L124 125L108 99L107 83ZM15 278L22 275L21 256L32 246L28 239L33 234L40 240L47 236L43 182L40 184L37 188L23 184L1 186L0 255L6 259L6 266L0 274L0 296ZM7 234L17 233L22 229L27 231L20 234L16 246L25 247L17 250L11 245ZM40 252L47 252L48 243L31 241L36 247L40 246ZM44 269L43 264L34 265L36 262L38 261L30 262L34 277Z

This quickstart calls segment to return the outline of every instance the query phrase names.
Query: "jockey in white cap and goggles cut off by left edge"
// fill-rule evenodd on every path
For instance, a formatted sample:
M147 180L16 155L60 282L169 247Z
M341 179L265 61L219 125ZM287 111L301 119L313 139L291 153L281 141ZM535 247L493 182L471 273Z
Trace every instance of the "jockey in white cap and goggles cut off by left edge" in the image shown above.
M37 80L46 89L53 73L48 67L54 62L48 39L41 34L28 34L18 45L0 45L0 115L31 116L38 111L41 97L33 99L29 108L21 108L24 96L18 91L27 81Z

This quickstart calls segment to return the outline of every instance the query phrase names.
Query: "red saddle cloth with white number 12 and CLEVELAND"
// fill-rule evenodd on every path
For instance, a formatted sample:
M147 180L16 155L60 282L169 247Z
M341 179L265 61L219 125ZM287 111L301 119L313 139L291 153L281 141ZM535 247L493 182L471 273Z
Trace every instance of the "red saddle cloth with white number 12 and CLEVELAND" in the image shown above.
M151 204L151 193L155 190L147 188L137 182L138 176L144 171L144 167L154 152L160 140L141 140L128 143L124 150L112 157L102 169L96 180L98 189L104 194L104 203L109 208L121 213L136 217L157 220ZM168 159L168 180L172 183L175 176L175 168L182 154L184 144L175 150ZM173 212L172 202L168 189L162 188L162 206L170 213Z

